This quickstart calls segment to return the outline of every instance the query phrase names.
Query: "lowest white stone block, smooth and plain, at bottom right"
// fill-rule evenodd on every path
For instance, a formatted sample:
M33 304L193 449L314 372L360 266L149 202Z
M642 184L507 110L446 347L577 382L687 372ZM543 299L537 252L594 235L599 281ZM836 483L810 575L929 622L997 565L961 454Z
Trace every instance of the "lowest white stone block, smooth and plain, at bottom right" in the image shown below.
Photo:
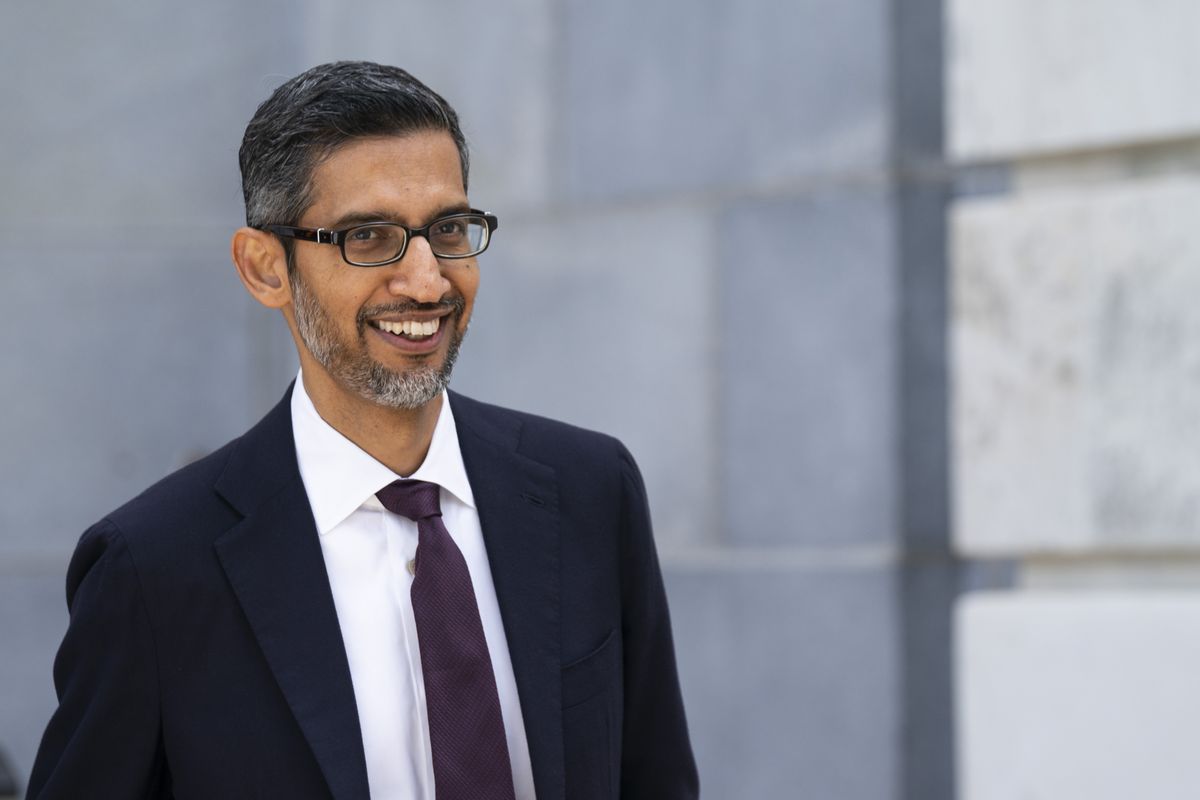
M1200 593L960 601L960 800L1200 796L1198 628Z

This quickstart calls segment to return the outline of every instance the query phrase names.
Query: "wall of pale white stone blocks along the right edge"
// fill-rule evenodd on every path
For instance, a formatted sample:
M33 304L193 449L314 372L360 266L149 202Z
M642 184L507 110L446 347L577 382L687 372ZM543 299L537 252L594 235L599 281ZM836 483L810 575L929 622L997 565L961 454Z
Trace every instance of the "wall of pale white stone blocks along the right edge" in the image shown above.
M947 20L960 796L1194 796L1200 6Z

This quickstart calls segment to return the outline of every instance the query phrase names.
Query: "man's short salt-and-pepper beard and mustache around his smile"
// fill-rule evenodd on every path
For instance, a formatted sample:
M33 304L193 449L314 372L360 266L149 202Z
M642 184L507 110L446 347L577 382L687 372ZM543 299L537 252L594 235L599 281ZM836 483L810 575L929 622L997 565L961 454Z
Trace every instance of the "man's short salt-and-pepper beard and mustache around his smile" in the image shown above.
M458 320L462 318L463 302L461 299L452 299L444 306L451 306L451 313L443 324L451 325L450 344L446 349L445 359L440 368L432 366L414 367L407 372L396 372L374 361L366 348L367 314L359 313L356 320L360 348L352 350L337 337L336 327L325 313L324 307L308 291L299 275L293 272L288 277L292 285L292 301L295 309L296 329L300 332L300 341L308 348L312 357L334 377L335 380L344 384L350 391L364 399L377 405L395 409L418 409L445 391L450 385L450 373L454 363L458 359L458 348L462 345L464 332L458 331ZM413 303L402 303L384 308L372 308L374 314L389 312L404 312L414 308ZM422 306L427 308L428 306ZM366 311L366 309L364 309Z

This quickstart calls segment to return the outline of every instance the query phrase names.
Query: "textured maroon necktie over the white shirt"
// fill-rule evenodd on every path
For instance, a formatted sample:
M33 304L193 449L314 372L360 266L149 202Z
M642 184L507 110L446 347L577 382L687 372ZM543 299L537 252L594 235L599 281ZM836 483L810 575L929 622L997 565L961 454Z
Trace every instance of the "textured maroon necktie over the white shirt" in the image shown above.
M438 487L394 481L376 497L416 523L413 616L438 800L514 800L492 660L467 561L442 523Z

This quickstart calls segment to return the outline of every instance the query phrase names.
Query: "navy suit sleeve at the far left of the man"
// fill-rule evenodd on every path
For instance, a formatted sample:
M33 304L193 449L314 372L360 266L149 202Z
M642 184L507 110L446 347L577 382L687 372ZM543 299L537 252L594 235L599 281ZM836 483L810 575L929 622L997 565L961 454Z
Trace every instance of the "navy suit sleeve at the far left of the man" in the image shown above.
M42 736L29 799L158 796L158 670L137 569L120 531L101 522L67 570L71 621L54 661L59 708Z

